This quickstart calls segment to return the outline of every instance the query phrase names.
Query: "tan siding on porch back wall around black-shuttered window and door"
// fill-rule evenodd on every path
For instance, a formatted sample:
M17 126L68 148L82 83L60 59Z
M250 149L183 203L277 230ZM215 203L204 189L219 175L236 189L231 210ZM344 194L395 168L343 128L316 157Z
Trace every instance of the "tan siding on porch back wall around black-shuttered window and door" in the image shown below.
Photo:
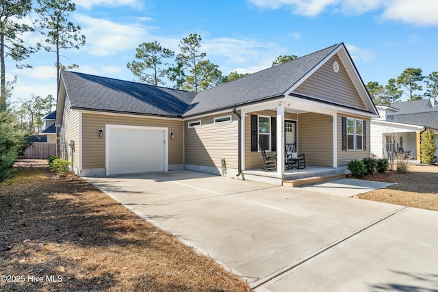
M257 116L271 116L276 118L276 111L267 110L267 111L255 111L251 113L247 113L247 117L245 118L245 166L244 169L250 170L255 168L263 168L263 159L261 158L261 153L259 151L251 151L251 117L250 115ZM285 120L297 120L296 114L285 113ZM297 122L298 131L299 131L299 122ZM297 137L298 141L300 137ZM266 152L267 155L274 155L274 151Z

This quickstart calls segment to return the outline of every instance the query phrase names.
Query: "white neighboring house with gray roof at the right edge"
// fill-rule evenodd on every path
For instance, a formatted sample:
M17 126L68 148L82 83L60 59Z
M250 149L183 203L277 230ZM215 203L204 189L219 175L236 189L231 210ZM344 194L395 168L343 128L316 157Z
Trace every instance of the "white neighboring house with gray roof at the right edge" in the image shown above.
M370 125L371 154L389 157L389 151L394 150L420 163L420 135L426 129L438 134L438 108L429 99L421 99L378 105L377 109L380 118L372 119Z

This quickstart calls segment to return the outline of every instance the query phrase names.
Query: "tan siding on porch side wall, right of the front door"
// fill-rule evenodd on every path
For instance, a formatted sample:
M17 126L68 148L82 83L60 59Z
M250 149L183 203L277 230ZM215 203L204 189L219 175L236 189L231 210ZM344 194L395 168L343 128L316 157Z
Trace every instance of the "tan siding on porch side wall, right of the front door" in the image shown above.
M305 154L306 164L333 167L333 119L322 114L298 116L298 154Z

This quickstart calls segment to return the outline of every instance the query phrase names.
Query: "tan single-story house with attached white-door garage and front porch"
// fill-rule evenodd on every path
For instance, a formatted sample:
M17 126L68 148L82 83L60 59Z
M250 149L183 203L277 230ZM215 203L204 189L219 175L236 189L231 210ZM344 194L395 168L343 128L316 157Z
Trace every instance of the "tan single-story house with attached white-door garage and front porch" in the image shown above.
M198 93L62 71L55 124L80 176L184 169L248 179L263 167L260 141L276 153L270 176L281 183L285 143L307 165L345 172L370 157L377 116L341 43Z

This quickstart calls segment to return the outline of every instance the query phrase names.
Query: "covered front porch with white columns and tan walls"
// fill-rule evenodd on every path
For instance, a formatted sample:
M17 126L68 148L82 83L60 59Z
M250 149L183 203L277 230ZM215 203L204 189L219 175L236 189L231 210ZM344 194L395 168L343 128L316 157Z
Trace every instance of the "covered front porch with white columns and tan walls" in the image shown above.
M245 179L263 176L289 180L318 173L336 173L338 116L335 108L287 97L241 109L241 157ZM340 138L339 138L340 139ZM259 142L267 155L276 155L276 170L263 170ZM305 155L305 169L285 168L285 143L295 143Z

